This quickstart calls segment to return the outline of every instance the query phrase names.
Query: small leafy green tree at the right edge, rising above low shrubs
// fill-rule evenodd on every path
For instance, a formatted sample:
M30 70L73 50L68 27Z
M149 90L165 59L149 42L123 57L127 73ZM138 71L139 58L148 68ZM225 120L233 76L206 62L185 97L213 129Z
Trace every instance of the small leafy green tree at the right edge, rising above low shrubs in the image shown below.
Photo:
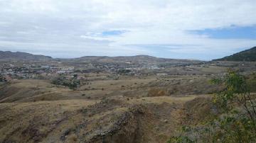
M250 94L250 88L247 85L245 76L230 70L224 79L213 79L213 83L224 84L225 86L224 91L220 91L216 94L217 96L215 96L215 102L218 100L220 105L226 109L226 112L234 109L233 104L230 104L231 102L242 105L243 108L245 108L247 115L253 121L255 128L255 97Z

